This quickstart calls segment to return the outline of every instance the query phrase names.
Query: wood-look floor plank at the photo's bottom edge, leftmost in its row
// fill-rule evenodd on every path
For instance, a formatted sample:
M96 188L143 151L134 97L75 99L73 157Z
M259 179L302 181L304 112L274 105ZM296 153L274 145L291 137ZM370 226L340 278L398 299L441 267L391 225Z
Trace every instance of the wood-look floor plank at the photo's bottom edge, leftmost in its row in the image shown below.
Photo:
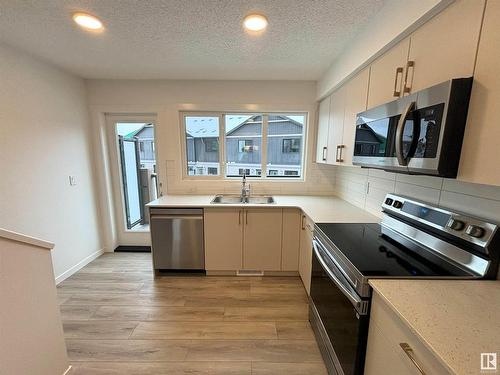
M74 362L71 375L251 375L250 362Z

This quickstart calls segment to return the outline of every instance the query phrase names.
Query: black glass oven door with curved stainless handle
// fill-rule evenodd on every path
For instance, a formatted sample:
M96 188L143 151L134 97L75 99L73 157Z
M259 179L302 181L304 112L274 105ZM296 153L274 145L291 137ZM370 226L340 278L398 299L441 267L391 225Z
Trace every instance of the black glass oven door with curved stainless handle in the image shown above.
M362 299L313 240L311 324L330 374L363 374L369 300Z

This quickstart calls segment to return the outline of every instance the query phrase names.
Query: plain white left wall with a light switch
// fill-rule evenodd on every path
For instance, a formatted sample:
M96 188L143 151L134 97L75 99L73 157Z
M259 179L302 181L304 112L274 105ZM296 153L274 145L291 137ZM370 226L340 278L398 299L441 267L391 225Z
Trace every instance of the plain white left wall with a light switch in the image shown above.
M56 276L101 249L90 136L83 80L0 45L0 227L54 242Z

